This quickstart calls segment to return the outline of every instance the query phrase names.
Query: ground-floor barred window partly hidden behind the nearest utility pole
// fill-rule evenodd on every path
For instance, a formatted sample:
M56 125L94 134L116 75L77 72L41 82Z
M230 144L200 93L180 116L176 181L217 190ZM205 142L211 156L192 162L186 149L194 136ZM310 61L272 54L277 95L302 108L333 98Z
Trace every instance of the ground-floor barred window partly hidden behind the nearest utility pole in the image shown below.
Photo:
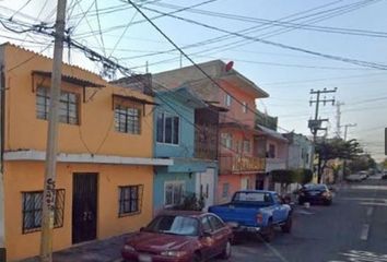
M23 234L39 231L42 227L43 191L22 192ZM64 189L56 190L54 227L63 226Z

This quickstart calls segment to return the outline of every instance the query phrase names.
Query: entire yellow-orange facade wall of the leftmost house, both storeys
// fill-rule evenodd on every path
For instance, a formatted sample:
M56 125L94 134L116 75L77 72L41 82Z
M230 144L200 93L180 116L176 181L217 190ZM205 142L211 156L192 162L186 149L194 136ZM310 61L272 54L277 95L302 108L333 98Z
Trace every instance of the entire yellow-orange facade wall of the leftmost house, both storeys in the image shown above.
M50 86L50 80L35 76L32 71L51 71L52 60L22 48L5 44L5 151L45 151L47 121L36 118L34 87ZM1 50L0 50L1 51ZM113 94L152 97L127 88L109 85L89 71L63 66L63 74L106 85L104 88L83 90L62 82L61 88L80 95L80 124L59 126L59 152L152 157L152 106L142 115L141 134L115 131ZM94 94L94 92L96 93ZM92 97L92 98L91 98ZM142 105L140 106L142 109ZM38 254L40 233L22 234L22 191L43 189L44 162L5 162L4 164L5 248L8 259L15 260ZM64 224L54 229L54 249L71 246L72 174L98 172L97 238L132 231L151 219L153 168L151 166L124 166L98 164L58 164L57 189L66 189ZM118 186L144 184L142 213L118 218Z

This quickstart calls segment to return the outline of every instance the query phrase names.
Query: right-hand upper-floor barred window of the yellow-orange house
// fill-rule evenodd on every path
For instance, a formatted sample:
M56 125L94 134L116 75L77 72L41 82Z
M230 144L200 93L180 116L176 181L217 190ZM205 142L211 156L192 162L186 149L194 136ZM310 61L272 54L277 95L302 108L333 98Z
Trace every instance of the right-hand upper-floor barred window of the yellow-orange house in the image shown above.
M141 133L141 110L122 105L115 106L116 131L130 134Z

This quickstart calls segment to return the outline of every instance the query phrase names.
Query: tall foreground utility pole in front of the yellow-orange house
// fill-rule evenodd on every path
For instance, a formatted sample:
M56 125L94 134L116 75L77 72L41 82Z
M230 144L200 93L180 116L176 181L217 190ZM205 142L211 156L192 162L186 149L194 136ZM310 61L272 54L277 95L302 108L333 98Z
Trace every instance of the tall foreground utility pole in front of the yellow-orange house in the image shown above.
M52 60L50 105L48 112L48 132L46 147L46 166L43 192L40 261L52 261L52 228L55 221L55 183L58 151L58 121L60 107L60 84L62 71L66 1L58 0L57 21L55 24L55 47Z

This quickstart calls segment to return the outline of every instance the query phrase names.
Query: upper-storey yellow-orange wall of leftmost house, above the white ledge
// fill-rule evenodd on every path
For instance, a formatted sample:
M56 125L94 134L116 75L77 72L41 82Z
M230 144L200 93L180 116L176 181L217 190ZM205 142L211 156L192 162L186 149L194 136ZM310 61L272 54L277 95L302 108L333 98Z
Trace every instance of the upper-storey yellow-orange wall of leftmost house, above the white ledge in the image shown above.
M50 79L44 82L40 76L33 78L33 70L51 71L52 61L34 52L3 45L5 48L5 105L7 121L5 150L33 148L45 151L47 121L36 118L36 93L33 85L50 85ZM25 62L26 60L30 61ZM25 62L25 63L23 63ZM22 64L15 69L17 64ZM152 106L145 108L142 118L141 134L127 134L115 131L113 94L130 95L152 100L152 97L127 88L109 85L98 75L77 67L63 66L63 74L105 85L101 90L86 88L86 103L83 103L82 87L62 82L62 90L80 94L80 124L60 123L59 151L66 153L93 153L120 156L152 156ZM94 92L96 94L94 94ZM93 96L94 94L94 96ZM92 97L92 99L90 99ZM142 109L142 106L141 106Z

